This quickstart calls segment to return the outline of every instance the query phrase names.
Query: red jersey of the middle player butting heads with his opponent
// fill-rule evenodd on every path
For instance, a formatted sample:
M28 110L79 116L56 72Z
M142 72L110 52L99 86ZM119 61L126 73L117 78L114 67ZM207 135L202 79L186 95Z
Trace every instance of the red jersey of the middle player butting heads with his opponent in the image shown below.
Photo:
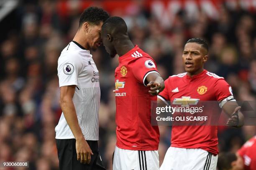
M138 46L119 57L115 69L117 147L158 150L159 129L151 125L151 96L146 76L157 72L155 61Z

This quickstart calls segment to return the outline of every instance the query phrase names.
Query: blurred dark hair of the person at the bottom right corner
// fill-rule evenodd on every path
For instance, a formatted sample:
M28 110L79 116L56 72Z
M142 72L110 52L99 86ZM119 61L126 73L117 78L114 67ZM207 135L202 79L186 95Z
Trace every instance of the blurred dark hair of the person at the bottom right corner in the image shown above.
M231 168L231 163L237 160L236 154L231 152L223 152L218 156L217 167L218 170L229 170Z

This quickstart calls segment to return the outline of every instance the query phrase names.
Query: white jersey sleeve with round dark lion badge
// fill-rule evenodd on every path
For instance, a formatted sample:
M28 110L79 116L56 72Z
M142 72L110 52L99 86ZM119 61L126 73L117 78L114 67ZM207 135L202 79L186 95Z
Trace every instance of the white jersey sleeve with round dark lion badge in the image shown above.
M79 63L79 61L79 56L75 55L59 58L59 87L77 85L77 77L82 67L82 63Z

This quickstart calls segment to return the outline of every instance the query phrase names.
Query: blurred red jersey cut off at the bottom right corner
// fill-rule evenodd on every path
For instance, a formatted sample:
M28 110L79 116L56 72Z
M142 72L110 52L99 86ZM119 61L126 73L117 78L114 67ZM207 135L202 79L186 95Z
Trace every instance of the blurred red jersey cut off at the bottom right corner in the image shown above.
M245 170L256 170L256 136L248 140L240 150L238 155L243 158Z

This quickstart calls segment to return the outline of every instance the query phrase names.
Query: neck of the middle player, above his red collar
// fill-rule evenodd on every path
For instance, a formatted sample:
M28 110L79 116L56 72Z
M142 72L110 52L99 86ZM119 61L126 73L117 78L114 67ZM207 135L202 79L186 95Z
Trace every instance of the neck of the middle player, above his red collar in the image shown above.
M134 45L130 39L124 39L124 40L118 41L116 42L116 45L115 45L115 50L118 53L118 56L123 56L133 48L134 48Z

